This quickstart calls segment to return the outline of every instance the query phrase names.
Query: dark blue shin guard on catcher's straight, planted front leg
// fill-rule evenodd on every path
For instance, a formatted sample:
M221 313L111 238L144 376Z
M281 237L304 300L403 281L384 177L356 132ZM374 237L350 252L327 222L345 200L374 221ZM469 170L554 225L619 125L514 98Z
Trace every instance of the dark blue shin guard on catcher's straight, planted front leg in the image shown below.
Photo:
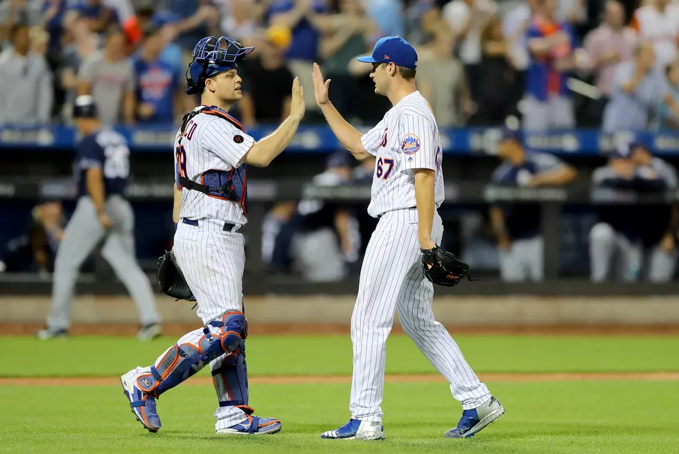
M248 405L247 365L245 349L224 354L210 363L212 383L220 407L238 407L247 414L254 410Z

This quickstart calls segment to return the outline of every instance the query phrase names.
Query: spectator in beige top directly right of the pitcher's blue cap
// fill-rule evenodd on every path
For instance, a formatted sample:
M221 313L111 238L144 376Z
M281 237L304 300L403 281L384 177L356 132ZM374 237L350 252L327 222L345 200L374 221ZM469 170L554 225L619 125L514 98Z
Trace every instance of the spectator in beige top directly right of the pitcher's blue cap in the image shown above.
M461 125L475 104L464 67L452 56L452 32L437 6L430 4L423 12L421 30L430 38L417 48L417 88L432 106L439 126Z

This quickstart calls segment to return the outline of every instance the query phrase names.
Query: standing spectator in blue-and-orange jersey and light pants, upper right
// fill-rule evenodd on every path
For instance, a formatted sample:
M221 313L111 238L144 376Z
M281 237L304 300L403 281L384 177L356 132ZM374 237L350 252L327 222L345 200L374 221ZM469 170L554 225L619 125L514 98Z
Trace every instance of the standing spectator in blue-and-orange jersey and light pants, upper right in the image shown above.
M556 6L556 0L544 0L527 30L531 63L525 94L525 130L575 126L566 79L574 68L573 49L577 40L572 26L556 19Z

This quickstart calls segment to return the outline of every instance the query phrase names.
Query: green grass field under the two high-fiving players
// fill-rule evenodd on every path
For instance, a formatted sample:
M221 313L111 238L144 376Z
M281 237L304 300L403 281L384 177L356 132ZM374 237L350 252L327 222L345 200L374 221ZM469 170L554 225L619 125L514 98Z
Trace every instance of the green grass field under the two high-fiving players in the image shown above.
M152 363L174 341L0 338L0 377L46 377L42 386L0 381L0 453L679 452L676 381L488 382L506 414L464 440L442 438L461 414L446 383L388 381L383 442L319 439L349 419L349 383L252 386L250 403L257 414L280 418L283 432L238 439L215 435L210 385L179 386L164 394L158 404L163 428L157 434L134 420L118 386L58 385L56 377L119 376ZM679 372L675 337L467 335L457 341L479 375ZM262 336L247 342L251 376L351 374L348 336ZM200 375L209 376L205 372ZM387 346L387 374L435 371L412 342L394 336Z

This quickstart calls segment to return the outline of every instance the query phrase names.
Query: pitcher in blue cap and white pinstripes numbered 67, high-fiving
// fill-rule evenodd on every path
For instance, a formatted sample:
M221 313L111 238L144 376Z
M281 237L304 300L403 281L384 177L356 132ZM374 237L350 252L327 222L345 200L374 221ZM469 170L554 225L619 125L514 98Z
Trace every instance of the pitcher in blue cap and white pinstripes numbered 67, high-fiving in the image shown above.
M321 437L384 438L380 403L386 342L397 309L403 330L462 403L462 418L445 436L470 437L500 417L504 408L479 382L432 312L434 286L425 278L421 256L443 236L436 212L443 202L442 153L431 106L415 89L417 54L403 38L385 37L371 56L359 60L373 64L375 91L394 106L363 136L328 101L330 80L314 66L316 101L330 128L357 159L376 157L368 213L379 219L365 253L351 317L351 419Z

